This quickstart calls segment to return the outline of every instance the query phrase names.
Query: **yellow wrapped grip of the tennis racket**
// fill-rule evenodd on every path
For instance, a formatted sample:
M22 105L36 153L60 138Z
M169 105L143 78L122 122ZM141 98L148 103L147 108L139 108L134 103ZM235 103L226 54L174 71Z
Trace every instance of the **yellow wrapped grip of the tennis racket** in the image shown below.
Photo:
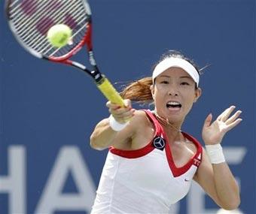
M107 78L103 77L103 80L101 80L100 83L97 83L97 87L102 94L105 95L108 101L111 101L113 104L120 104L121 107L124 106L123 98L121 98L117 90L114 89L114 86L112 86Z

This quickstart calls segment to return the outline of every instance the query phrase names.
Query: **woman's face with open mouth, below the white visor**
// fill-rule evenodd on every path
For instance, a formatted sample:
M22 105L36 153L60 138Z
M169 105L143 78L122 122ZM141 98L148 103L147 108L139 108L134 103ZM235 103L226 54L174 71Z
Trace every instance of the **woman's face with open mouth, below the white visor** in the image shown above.
M155 110L169 122L183 122L193 103L201 95L195 82L182 68L168 68L151 86Z

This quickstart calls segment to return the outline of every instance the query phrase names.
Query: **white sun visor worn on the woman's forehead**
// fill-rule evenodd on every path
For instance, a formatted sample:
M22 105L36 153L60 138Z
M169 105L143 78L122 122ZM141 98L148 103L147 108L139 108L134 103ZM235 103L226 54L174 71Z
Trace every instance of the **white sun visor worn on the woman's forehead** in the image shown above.
M182 68L184 71L187 72L187 74L190 75L190 77L192 77L192 79L197 83L197 87L198 87L200 77L197 72L197 69L194 68L194 66L191 65L190 62L187 62L187 60L176 58L176 57L169 57L169 58L163 59L163 61L160 62L156 66L156 68L154 68L154 71L152 74L153 82L156 77L158 77L160 74L163 73L163 71L166 71L166 69L171 67Z

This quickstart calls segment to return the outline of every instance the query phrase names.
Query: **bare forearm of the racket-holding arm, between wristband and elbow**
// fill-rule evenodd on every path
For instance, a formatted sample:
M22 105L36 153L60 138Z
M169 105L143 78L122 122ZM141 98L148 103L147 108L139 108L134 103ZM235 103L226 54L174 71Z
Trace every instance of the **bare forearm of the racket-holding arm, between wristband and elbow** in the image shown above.
M114 141L117 131L114 131L109 125L109 119L103 119L96 125L93 133L90 136L90 146L93 149L106 149Z

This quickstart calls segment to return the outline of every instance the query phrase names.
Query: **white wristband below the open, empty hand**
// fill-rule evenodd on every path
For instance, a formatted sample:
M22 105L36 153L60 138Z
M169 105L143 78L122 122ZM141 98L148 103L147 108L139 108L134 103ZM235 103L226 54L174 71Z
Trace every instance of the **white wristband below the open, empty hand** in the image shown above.
M206 152L212 164L221 164L225 161L221 144L206 145Z

